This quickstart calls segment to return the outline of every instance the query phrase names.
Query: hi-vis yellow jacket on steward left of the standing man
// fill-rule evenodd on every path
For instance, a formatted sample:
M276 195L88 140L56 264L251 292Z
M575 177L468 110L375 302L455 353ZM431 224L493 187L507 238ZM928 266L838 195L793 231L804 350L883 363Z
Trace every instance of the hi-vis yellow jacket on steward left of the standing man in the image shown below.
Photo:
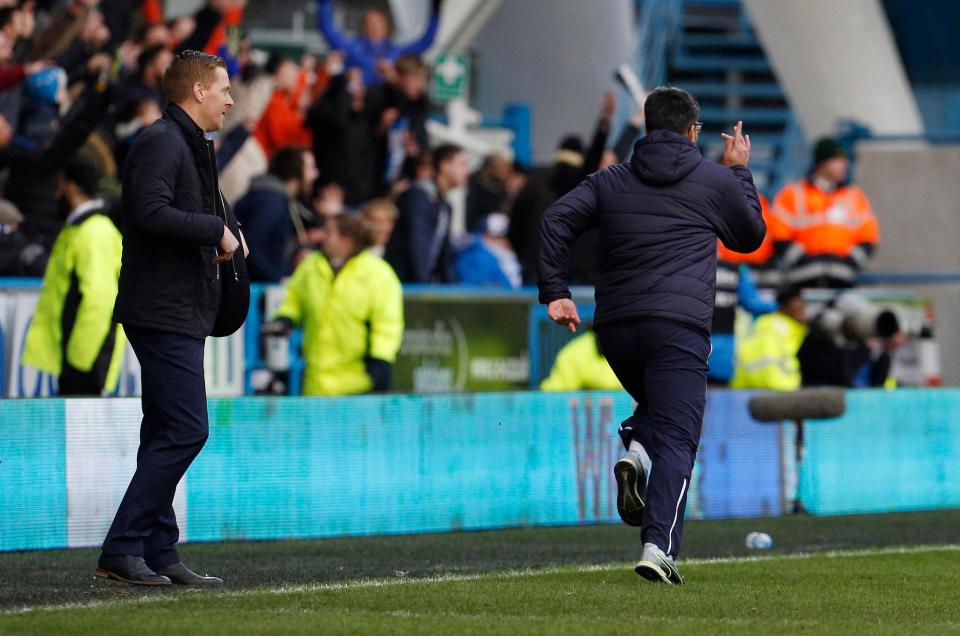
M126 339L113 322L122 241L113 221L94 210L69 222L53 245L30 323L23 363L59 375L70 366L90 371L110 354L105 386L120 379ZM112 352L108 339L113 338Z

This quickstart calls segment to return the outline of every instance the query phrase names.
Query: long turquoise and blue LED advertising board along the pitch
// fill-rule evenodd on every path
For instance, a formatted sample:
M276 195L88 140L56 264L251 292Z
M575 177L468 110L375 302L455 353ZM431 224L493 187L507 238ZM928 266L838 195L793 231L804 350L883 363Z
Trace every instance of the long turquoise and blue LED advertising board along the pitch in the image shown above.
M711 392L687 516L778 515L789 425ZM211 398L175 501L188 541L617 522L621 393ZM960 506L960 390L852 391L807 426L814 514ZM95 546L133 473L135 399L0 400L0 550Z

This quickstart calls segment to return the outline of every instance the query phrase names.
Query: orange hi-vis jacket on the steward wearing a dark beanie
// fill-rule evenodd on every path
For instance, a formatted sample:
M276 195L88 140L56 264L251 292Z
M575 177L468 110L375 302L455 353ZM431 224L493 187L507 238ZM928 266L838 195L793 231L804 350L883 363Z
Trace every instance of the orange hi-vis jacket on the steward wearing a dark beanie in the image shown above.
M880 232L863 190L846 185L826 192L801 179L774 198L767 236L775 244L789 243L783 254L788 282L852 284Z

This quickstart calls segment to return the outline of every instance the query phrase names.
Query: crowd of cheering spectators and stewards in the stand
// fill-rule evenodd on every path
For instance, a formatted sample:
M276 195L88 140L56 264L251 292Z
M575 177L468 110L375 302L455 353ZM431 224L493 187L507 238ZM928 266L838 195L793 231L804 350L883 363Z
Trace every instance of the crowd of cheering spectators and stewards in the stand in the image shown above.
M110 279L119 269L119 235L102 225L95 235L79 227L91 215L119 225L124 159L137 134L163 116L163 74L181 51L219 55L229 69L236 107L215 139L220 187L242 224L251 280L292 276L296 283L270 329L326 325L306 339L312 347L306 357L313 360L308 391L389 386L402 334L398 283L534 283L544 210L587 175L629 161L643 131L642 108L622 130L612 130L610 93L601 99L589 142L564 137L550 165L529 168L491 155L471 174L464 149L431 147L427 134L436 108L420 55L436 36L440 0L432 2L422 37L408 44L393 42L389 17L377 10L365 13L356 36L348 35L335 23L332 0L318 0L318 26L330 47L323 58L255 50L244 31L246 4L208 0L194 15L165 16L158 0L0 0L0 276L46 273L40 314L47 312L63 352L62 365L49 351L28 352L36 366L57 373L99 369L100 387L115 373L110 362L122 332L109 326L110 296L116 295ZM809 175L787 185L772 204L763 201L764 245L746 257L718 246L714 381L726 384L734 375L736 307L755 314L775 309L752 300L754 278L766 287L855 282L878 230L865 195L848 182L848 169L843 147L822 140ZM455 229L450 197L464 188L460 226L466 234ZM68 234L69 249L61 248L67 255L57 258L55 245ZM109 249L84 250L91 241L105 241ZM581 238L571 283L596 281L597 245L597 230ZM333 293L334 277L348 264L356 280L373 276L375 289L357 282ZM79 293L71 277L81 279ZM311 301L320 297L331 300ZM378 299L386 299L385 309L357 314L356 324L331 317L337 307L375 307ZM64 315L75 324L64 327ZM92 337L104 346L71 348L73 329L89 330L73 340ZM362 357L360 345L372 338L376 356L362 362L326 359L330 347L321 346L353 339ZM584 349L591 350L595 346ZM331 377L318 375L321 368Z

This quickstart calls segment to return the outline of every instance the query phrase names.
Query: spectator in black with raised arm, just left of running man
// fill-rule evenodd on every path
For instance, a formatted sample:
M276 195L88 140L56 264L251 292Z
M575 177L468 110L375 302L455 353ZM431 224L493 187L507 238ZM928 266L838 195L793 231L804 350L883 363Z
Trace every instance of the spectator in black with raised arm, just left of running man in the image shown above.
M590 148L584 152L583 140L577 135L565 137L554 155L552 168L531 174L527 185L517 196L510 213L510 234L507 238L520 258L524 283L534 283L537 278L537 228L540 217L551 203L575 188L587 175L593 174L600 167L610 134L610 121L615 111L613 95L604 95ZM599 239L594 230L584 233L578 239L571 257L571 284L592 284L596 281L598 243Z

